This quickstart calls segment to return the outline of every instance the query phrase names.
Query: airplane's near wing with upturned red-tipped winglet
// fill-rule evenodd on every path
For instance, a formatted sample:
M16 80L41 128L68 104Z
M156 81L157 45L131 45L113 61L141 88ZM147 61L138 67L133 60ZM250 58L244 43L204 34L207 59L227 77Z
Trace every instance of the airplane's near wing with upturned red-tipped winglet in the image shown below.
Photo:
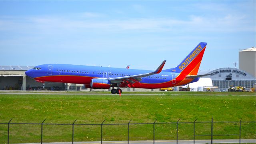
M104 79L107 79L109 80L111 83L128 83L128 84L133 84L133 83L139 83L139 81L141 81L142 77L145 77L145 76L150 76L150 75L153 75L153 74L159 74L163 67L164 67L164 64L165 64L166 60L164 60L162 62L162 64L160 64L160 66L154 71L154 72L150 72L150 73L146 73L146 74L137 74L137 75L132 75L132 76L122 76L122 77L118 77L118 78L104 78Z

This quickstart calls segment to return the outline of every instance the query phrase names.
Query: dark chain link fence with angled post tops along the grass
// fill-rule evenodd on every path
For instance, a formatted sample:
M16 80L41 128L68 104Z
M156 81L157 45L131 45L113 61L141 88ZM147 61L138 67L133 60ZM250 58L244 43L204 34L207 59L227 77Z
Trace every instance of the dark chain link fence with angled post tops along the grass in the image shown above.
M256 122L157 122L107 124L72 123L0 123L0 143L41 143L46 142L88 142L130 140L200 140L210 139L252 139L256 137Z

